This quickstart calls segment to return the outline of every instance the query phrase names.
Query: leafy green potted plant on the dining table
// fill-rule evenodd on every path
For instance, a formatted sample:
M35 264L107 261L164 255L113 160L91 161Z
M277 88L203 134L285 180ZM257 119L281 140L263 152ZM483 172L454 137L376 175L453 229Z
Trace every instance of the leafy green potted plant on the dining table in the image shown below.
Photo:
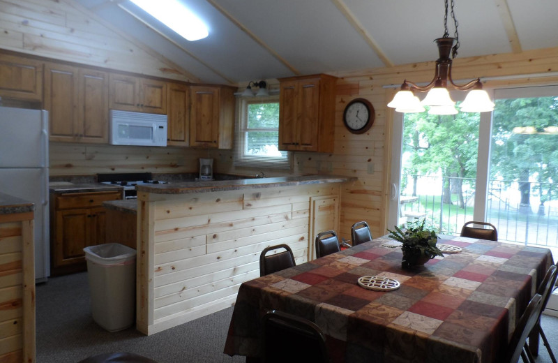
M403 251L402 268L415 267L424 265L425 262L435 256L442 256L436 243L438 236L434 230L424 228L425 219L421 224L419 222L408 223L406 230L402 230L395 225L395 231L390 232L389 237L402 243L401 251Z

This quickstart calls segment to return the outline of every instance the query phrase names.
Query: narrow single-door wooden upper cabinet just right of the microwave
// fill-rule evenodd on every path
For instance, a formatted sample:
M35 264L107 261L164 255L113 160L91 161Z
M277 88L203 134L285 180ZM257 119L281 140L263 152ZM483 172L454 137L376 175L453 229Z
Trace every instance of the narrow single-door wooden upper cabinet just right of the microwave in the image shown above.
M190 87L186 84L167 84L167 145L190 144Z

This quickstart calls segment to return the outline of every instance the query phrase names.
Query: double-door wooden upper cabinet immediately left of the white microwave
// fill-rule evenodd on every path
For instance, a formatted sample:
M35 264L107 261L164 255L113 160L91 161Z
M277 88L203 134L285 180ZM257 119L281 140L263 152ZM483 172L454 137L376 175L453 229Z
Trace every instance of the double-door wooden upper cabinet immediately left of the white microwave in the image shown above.
M108 73L45 64L44 108L52 141L108 141Z

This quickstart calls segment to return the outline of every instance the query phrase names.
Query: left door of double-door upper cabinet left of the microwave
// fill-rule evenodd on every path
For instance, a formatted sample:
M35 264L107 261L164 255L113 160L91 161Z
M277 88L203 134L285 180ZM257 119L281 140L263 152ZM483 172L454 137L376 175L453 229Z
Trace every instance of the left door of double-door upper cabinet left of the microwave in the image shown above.
M76 98L78 68L63 64L45 64L45 110L49 112L50 140L74 141L83 130L77 119Z

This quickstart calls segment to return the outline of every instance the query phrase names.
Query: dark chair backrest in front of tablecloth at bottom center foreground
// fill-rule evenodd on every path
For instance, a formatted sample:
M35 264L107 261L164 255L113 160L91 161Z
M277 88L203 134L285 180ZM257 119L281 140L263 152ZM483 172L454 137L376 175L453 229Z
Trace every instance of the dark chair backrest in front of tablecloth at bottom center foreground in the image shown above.
M272 310L263 327L262 362L329 362L324 333L310 320Z

